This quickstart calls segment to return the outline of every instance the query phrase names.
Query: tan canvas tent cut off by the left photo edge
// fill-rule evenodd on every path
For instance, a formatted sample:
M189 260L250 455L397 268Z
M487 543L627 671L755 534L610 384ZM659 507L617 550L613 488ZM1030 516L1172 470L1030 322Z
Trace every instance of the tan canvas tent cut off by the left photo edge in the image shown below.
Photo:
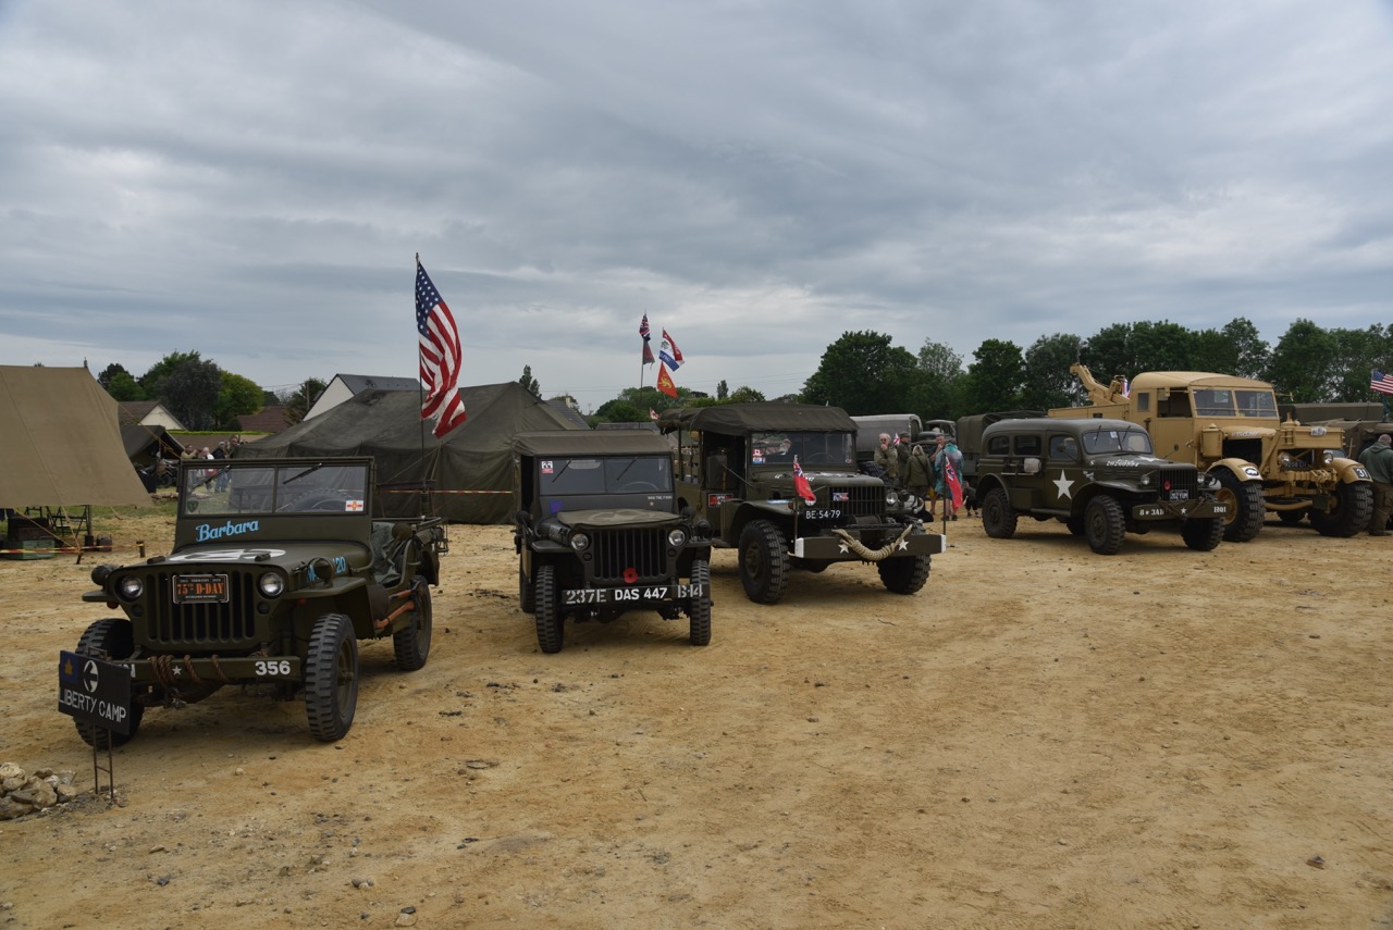
M85 368L0 366L0 507L150 503Z

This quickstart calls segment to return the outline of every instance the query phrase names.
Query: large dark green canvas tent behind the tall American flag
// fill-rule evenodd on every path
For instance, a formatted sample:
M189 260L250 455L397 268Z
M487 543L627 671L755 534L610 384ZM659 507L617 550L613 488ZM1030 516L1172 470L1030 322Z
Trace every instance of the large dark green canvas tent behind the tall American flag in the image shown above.
M283 433L242 446L237 455L372 455L379 515L417 515L421 501L414 489L428 482L439 517L456 523L510 522L514 433L577 426L517 381L461 387L460 395L468 419L443 440L422 422L419 393L366 390Z

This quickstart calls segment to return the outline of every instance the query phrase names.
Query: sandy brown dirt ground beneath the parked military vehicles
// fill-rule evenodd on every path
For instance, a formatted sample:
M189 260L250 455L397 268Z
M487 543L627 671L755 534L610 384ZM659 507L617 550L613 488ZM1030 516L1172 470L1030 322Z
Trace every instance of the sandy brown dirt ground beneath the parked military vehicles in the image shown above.
M0 762L84 796L0 823L0 929L1393 927L1387 539L1194 553L949 525L917 596L713 557L710 646L656 614L543 656L507 528L453 526L429 664L364 645L352 731L224 689L153 710L93 798L57 656L95 561L0 561Z

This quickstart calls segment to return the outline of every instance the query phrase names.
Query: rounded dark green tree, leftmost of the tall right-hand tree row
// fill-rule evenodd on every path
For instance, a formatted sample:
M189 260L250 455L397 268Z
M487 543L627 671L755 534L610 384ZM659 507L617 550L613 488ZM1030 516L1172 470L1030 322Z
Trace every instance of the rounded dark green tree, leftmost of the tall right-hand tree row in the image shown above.
M802 387L808 404L833 404L853 416L903 411L917 381L917 359L880 333L843 333Z

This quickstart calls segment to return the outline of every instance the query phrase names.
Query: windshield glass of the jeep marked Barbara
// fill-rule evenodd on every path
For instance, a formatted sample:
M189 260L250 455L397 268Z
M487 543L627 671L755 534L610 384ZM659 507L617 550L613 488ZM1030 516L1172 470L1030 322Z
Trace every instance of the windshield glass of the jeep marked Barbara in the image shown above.
M210 514L362 514L366 464L226 465L184 461L180 515Z

